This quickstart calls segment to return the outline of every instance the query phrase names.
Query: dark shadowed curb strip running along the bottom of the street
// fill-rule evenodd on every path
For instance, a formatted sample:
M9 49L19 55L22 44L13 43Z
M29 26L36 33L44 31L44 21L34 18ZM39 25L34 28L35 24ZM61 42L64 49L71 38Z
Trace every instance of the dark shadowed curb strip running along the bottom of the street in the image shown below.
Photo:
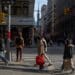
M33 73L48 73L51 75L72 75L72 72L63 72L60 69L54 69L54 70L39 70L36 67L33 67L31 65L21 65L21 64L9 64L8 66L5 66L4 64L0 64L1 70L12 70L12 71L19 71L19 72L33 72Z

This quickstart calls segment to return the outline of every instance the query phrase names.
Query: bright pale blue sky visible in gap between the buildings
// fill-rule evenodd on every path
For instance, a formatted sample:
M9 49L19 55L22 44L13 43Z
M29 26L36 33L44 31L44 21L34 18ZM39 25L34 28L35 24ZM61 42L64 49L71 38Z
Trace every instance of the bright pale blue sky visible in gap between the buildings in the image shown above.
M38 6L39 6L39 10L41 10L41 6L43 4L47 4L47 0L35 0L35 8L34 8L34 18L35 18L35 21L37 21L37 10L38 10Z

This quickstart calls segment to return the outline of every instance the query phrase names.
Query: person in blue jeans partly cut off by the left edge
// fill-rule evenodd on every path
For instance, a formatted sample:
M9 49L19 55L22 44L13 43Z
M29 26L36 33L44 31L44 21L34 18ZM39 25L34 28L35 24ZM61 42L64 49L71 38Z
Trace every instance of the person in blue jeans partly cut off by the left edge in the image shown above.
M4 42L4 38L3 35L0 34L0 59L5 62L5 65L8 65L8 60L5 57L5 42Z

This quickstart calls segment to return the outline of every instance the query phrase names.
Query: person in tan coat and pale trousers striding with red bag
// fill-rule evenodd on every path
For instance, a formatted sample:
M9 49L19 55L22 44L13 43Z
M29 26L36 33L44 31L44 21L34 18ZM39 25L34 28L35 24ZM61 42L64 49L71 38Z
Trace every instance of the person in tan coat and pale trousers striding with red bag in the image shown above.
M44 58L48 61L48 66L51 66L51 60L49 59L49 57L47 56L47 42L45 40L45 38L43 36L38 37L38 55L43 55ZM40 67L41 69L43 68Z

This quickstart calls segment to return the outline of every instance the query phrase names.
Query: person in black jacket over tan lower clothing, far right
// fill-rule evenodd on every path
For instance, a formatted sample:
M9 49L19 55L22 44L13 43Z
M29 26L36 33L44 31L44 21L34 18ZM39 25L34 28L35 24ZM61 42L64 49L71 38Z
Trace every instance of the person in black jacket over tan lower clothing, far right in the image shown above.
M74 45L72 43L71 39L67 39L65 42L65 47L64 47L64 56L63 56L63 65L62 65L62 69L68 69L71 68L72 70L74 70L74 65L73 65L73 48Z

